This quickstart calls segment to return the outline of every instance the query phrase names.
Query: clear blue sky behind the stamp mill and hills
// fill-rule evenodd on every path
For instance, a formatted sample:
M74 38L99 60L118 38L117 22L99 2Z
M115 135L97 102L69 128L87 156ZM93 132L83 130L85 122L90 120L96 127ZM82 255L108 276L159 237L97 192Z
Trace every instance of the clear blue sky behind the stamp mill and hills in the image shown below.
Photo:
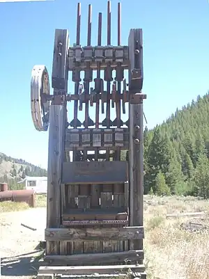
M82 45L86 44L88 3L93 4L92 45L96 45L99 12L103 15L103 29L107 26L107 1L81 2ZM112 45L117 43L117 3L111 1ZM148 127L152 128L166 120L176 107L204 95L209 88L209 3L208 0L121 3L122 44L127 45L131 28L142 28L144 33L143 91L147 94L144 111ZM0 152L47 168L48 132L36 131L31 120L31 70L35 64L45 64L51 75L54 31L68 29L72 45L76 10L75 0L0 3ZM106 44L105 30L102 45ZM71 117L69 111L68 118Z

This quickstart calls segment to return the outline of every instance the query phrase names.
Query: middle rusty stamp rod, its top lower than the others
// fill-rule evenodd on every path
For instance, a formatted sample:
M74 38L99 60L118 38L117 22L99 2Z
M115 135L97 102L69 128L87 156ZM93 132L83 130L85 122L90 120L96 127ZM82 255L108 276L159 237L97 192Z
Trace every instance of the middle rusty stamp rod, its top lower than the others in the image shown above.
M98 15L98 46L102 45L102 13L99 13ZM102 91L103 87L103 81L100 78L100 62L97 63L97 80L98 83L100 83L100 92ZM96 81L95 81L96 82ZM96 85L95 85L96 87ZM98 89L98 88L95 88ZM98 92L96 92L97 94L99 94ZM101 92L102 93L102 92ZM96 96L99 97L99 96ZM104 106L104 104L103 104ZM97 98L97 102L96 102L96 107L95 107L95 127L96 129L99 128L99 122L100 122L100 99Z

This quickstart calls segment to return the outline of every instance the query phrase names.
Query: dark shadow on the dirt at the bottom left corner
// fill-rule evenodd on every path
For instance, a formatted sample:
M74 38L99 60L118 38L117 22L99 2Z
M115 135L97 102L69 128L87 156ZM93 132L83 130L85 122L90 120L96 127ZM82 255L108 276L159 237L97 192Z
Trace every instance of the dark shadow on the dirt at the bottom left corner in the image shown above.
M32 253L1 258L2 276L33 276L37 274L41 264L43 251L36 250Z

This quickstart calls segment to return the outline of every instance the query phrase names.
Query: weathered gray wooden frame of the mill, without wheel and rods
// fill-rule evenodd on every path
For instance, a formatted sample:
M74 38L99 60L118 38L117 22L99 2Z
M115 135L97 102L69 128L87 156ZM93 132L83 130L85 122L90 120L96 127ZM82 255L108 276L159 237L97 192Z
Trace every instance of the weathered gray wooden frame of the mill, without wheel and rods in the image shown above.
M92 268L90 271L86 266L76 266L76 268L75 266L73 266L74 268L71 268L71 266L50 266L50 268L42 266L40 268L40 273L51 273L52 271L54 273L62 273L63 270L65 270L65 274L74 273L79 275L93 272L111 273L111 271L121 271L121 269L132 269L136 272L144 272L144 265L142 264L144 260L143 97L141 97L143 83L142 31L141 29L131 29L127 46L130 94L133 96L131 97L132 101L129 103L129 128L124 130L126 134L128 133L128 137L122 135L124 140L123 144L120 140L118 141L118 146L111 145L110 141L107 143L106 147L102 146L102 148L107 148L108 152L109 150L118 150L118 148L122 150L127 147L128 138L129 160L128 162L102 162L104 168L100 168L100 176L96 172L93 173L93 167L91 167L93 164L99 166L100 162L89 163L89 168L86 167L85 162L79 162L80 168L72 170L78 163L74 161L69 162L65 157L66 151L75 151L82 148L86 148L87 150L88 148L92 149L93 146L89 147L86 145L84 147L80 143L77 143L78 141L75 144L79 144L79 146L70 146L68 143L66 144L66 142L68 142L66 138L69 137L70 133L77 132L66 129L67 99L65 95L68 90L69 70L68 31L56 29L54 41L54 62L52 70L54 98L49 112L47 228L45 230L47 245L45 260L51 262L55 261L57 264L59 264L59 262L61 262L61 264L65 262L66 264L75 264L75 266L79 264L91 264ZM136 53L138 56L136 56ZM58 56L61 56L61 58L58 58ZM116 132L117 131L112 129L109 131L109 134L114 134L115 136ZM81 131L79 131L79 133L82 135ZM91 133L94 133L93 129L91 129ZM80 138L82 138L82 136L80 136ZM82 169L83 165L84 168ZM69 173L68 170L70 170ZM88 173L88 170L91 171ZM86 175L86 177L84 177L84 175ZM126 181L128 181L128 183L125 183ZM90 205L88 205L88 203L90 204L90 202L86 203L86 200L88 200L92 192L88 193L86 189L88 184L91 184L91 191L101 191L101 198L107 200L107 205L103 205L101 202L101 205L98 205L98 207L101 209L105 209L105 207L110 208L111 206L118 206L118 208L121 209L125 208L127 218L125 216L125 218L121 220L115 220L114 218L98 220L98 223L95 223L97 226L95 228L88 228L89 225L93 225L94 220L90 220L89 222L86 220L86 223L85 220L80 220L79 223L78 220L74 221L63 218L67 216L65 213L65 208L68 206L68 201L66 201L65 198L66 189L68 189L67 191L72 191L71 186L80 186L81 184L83 186L83 193L75 193L75 196L70 196L71 200L78 198L81 202L80 205L78 202L78 209L84 209L84 211L89 209ZM100 190L100 184L103 185L102 190ZM114 193L111 192L111 186L109 184L116 185ZM121 185L124 184L125 186L123 189ZM82 199L85 200L85 202L83 202ZM118 205L116 205L116 203L118 203ZM72 213L73 210L72 208ZM82 221L84 222L82 223ZM116 223L116 221L118 221L120 227L110 227L111 222ZM68 225L71 227L65 228L65 226ZM126 225L126 227L124 227L124 225ZM72 228L72 226L75 226L75 228ZM93 242L93 245L96 242L102 242L103 244L106 243L107 246L111 243L111 245L114 246L114 250L109 252L107 249L103 253L79 254L74 253L72 248L72 254L68 255L68 243L73 246L75 244L87 245L91 242ZM94 265L97 262L102 264L113 264L114 262L124 263L126 260L137 264L127 264L124 266Z

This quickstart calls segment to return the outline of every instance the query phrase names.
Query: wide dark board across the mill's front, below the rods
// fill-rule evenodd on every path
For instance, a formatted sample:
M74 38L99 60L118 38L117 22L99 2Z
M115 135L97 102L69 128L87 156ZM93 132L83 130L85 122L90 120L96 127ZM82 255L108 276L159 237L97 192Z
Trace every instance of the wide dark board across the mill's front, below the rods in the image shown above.
M127 181L126 161L64 162L65 184L114 184Z

